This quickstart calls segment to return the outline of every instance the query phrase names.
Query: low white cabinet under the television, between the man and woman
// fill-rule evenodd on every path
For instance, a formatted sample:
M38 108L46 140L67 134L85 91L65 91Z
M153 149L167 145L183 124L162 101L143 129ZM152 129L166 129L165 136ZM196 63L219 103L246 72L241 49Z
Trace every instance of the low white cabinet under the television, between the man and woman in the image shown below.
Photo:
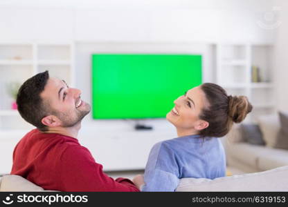
M147 125L153 130L134 130L123 121L101 122L88 128L82 124L78 139L105 171L142 170L154 144L177 137L176 129L165 119L150 120ZM118 127L113 128L113 123Z

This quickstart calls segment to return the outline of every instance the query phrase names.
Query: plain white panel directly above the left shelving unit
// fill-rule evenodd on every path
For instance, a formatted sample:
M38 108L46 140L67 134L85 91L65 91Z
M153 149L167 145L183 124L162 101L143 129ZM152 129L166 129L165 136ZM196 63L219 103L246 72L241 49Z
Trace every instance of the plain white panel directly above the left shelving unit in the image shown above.
M0 40L69 40L74 38L73 11L1 8Z

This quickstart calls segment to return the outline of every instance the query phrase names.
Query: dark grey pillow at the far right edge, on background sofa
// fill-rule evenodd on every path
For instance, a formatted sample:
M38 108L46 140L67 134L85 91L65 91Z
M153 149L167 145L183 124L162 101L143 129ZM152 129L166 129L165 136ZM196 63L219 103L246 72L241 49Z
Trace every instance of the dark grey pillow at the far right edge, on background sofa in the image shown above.
M288 149L288 113L279 112L280 131L278 132L275 148Z

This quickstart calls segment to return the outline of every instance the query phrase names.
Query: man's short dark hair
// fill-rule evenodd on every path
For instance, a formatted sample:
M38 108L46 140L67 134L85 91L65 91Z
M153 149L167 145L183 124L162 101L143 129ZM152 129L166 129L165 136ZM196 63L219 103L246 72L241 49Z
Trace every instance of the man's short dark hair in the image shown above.
M25 81L19 88L16 100L21 117L42 131L47 130L47 126L41 121L47 111L40 93L44 90L48 78L49 73L46 70Z

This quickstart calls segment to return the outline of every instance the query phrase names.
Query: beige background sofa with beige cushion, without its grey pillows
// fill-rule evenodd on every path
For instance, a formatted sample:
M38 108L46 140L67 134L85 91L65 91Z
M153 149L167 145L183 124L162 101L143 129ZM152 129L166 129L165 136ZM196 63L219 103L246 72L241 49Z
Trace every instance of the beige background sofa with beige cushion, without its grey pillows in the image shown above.
M228 166L242 172L260 172L288 166L288 150L271 147L280 130L278 115L262 116L258 119L258 125L266 142L265 146L244 142L239 125L234 126L226 136L224 148Z

